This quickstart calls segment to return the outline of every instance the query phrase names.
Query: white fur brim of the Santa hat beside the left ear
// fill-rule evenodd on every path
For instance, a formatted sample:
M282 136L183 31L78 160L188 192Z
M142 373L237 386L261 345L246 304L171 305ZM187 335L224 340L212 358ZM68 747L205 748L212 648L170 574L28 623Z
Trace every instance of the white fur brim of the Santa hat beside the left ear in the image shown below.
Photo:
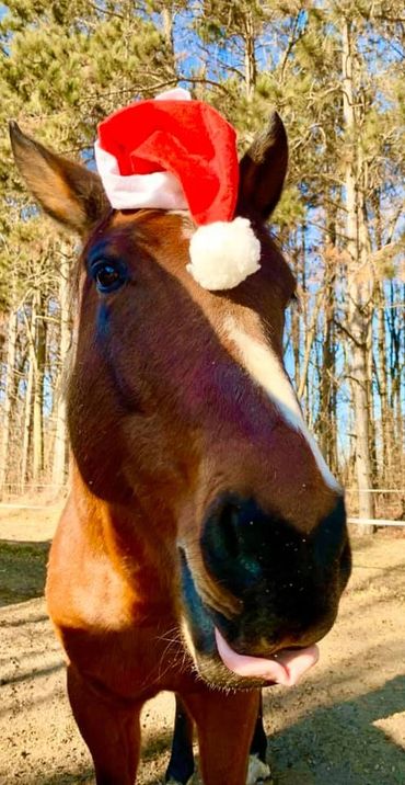
M119 174L117 159L94 143L95 162L109 204L115 209L187 209L180 180L171 172Z

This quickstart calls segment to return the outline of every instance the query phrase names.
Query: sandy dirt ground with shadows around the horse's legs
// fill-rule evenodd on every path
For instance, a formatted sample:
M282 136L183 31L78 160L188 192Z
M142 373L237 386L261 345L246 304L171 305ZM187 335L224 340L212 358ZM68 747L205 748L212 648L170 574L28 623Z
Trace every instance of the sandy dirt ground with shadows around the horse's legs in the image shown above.
M57 516L0 510L1 785L93 782L42 596ZM405 785L405 533L354 545L320 663L297 687L264 693L275 785ZM173 708L162 693L144 709L140 785L163 782Z

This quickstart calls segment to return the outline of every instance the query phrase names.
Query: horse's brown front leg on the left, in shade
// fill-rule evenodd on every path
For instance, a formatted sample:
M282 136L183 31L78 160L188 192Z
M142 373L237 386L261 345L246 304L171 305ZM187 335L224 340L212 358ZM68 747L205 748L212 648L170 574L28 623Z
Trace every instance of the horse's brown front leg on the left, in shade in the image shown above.
M96 785L134 785L139 760L141 706L104 698L72 667L68 693L79 730L89 747Z

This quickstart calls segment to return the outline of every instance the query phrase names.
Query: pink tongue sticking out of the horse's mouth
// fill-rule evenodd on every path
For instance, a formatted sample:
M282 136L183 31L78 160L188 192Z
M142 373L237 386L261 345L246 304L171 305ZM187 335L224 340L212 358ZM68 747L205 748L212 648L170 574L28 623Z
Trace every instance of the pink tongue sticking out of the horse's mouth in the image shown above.
M266 660L262 657L238 655L217 628L216 640L218 653L230 671L240 676L256 676L285 686L297 684L302 674L317 662L320 656L317 646L310 646L308 649L284 649L277 658Z

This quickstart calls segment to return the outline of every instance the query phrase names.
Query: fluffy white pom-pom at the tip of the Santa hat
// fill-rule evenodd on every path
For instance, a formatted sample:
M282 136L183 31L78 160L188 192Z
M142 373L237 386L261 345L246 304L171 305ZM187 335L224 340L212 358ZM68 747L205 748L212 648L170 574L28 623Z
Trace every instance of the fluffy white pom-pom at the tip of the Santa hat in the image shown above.
M199 226L189 243L188 272L205 289L232 289L259 270L261 243L247 218Z

